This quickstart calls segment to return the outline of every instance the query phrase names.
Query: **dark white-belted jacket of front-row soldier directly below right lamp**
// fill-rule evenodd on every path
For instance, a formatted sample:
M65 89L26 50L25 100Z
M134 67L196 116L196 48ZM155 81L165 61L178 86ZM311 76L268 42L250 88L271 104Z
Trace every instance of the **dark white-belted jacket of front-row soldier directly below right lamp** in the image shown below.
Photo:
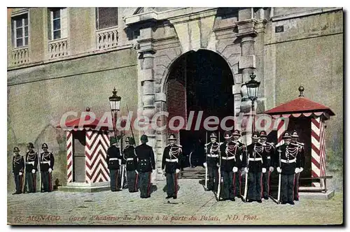
M262 168L267 168L267 155L262 143L251 143L246 147L246 155L243 156L242 166L248 167L250 173L259 173Z

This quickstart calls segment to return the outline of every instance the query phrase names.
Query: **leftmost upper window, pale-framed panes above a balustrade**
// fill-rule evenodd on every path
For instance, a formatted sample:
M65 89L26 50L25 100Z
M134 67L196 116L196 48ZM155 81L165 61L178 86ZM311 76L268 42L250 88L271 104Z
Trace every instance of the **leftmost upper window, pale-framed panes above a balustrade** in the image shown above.
M28 14L12 17L12 31L15 48L28 45Z

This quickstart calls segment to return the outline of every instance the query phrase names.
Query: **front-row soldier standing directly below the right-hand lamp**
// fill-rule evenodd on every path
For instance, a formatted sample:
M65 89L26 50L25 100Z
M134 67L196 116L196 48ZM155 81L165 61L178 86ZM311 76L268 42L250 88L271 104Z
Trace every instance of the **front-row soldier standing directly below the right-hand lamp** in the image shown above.
M261 203L262 173L266 173L267 157L264 145L258 142L259 138L259 133L254 131L253 143L246 147L247 155L243 157L242 165L244 165L244 171L248 173L248 202L258 201Z

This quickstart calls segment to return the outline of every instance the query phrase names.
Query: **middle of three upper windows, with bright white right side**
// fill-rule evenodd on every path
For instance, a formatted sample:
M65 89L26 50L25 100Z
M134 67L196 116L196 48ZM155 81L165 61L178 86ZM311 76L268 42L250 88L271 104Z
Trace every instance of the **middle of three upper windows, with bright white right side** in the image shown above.
M66 38L67 17L66 8L50 8L50 34L51 40Z

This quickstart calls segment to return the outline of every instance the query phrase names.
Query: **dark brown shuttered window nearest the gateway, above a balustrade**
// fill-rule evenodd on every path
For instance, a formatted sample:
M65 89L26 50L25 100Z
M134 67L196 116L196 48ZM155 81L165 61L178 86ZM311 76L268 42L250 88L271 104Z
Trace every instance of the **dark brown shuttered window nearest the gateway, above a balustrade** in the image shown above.
M96 8L96 29L106 29L118 26L118 7Z

